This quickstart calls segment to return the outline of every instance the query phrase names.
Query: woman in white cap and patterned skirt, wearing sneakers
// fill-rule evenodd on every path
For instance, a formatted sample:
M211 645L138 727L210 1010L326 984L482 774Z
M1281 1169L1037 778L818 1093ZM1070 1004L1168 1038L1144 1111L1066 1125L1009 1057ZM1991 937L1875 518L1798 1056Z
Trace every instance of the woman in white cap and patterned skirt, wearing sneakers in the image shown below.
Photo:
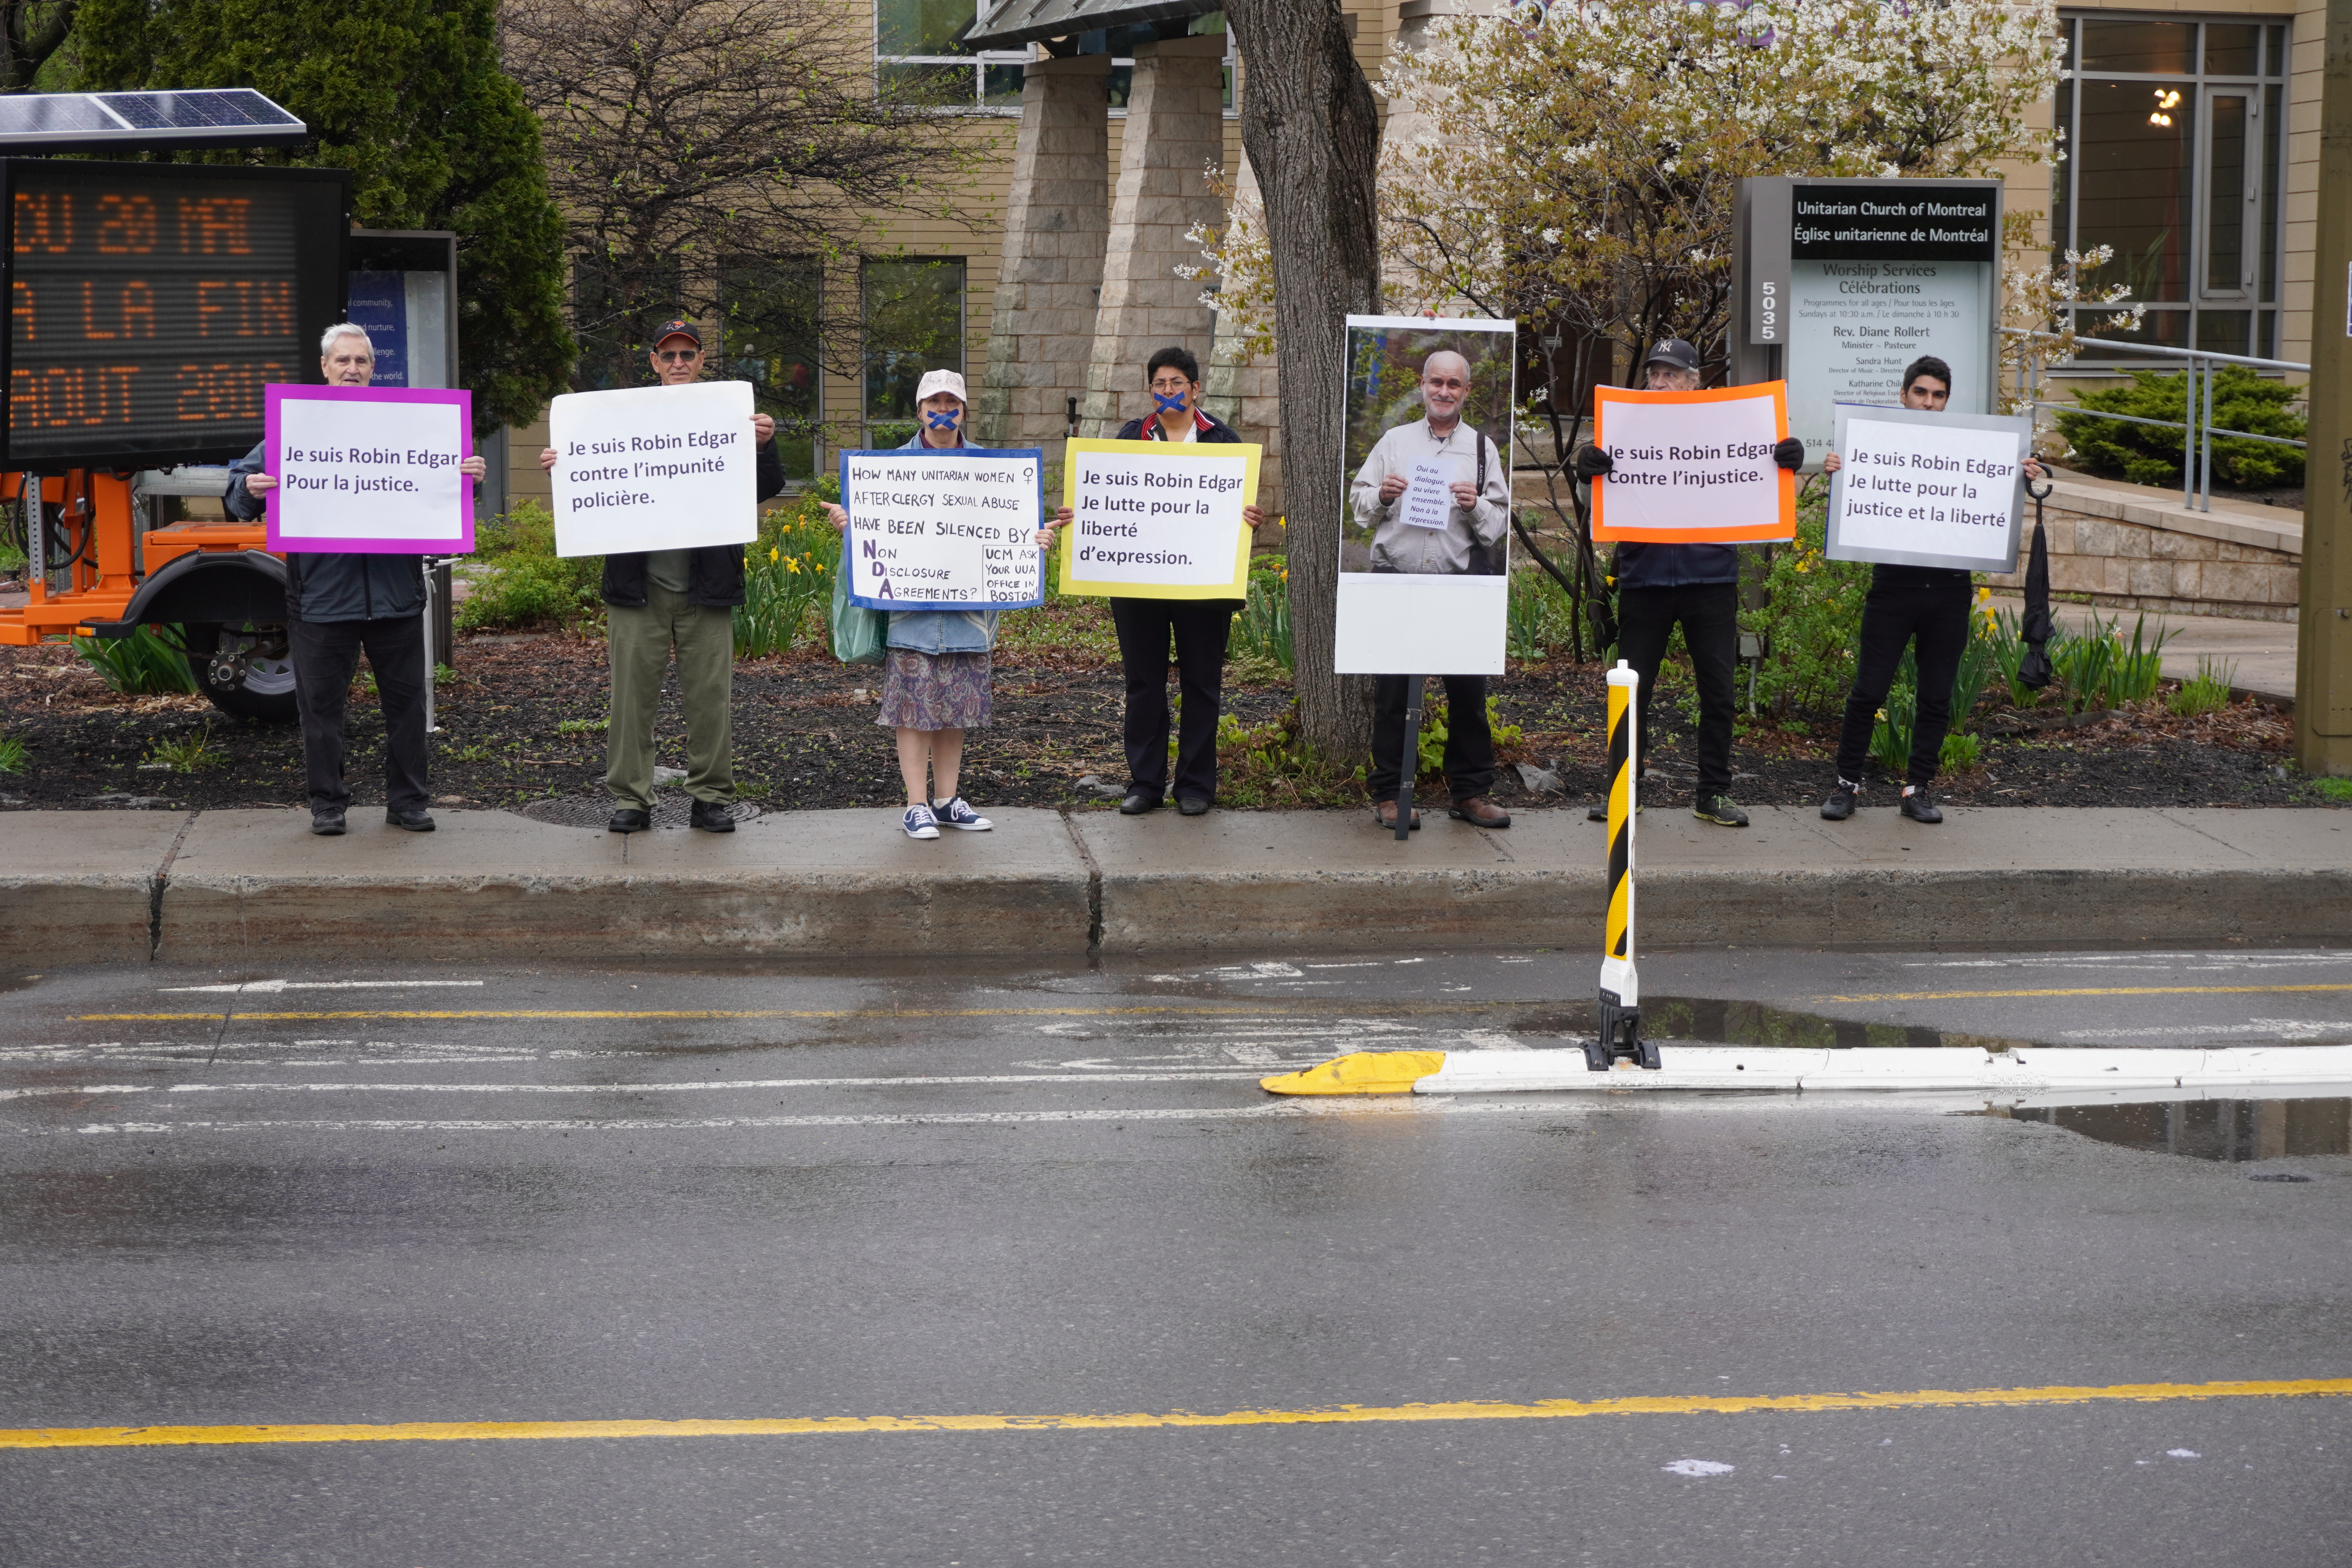
M964 440L964 378L953 369L924 371L915 386L915 435L901 451L983 451ZM849 512L826 503L835 529ZM1054 543L1051 529L1037 531ZM985 816L957 795L964 731L988 724L988 651L997 644L993 609L894 609L889 654L882 661L882 712L875 724L898 731L898 778L906 783L906 837L936 839L938 830L988 832Z

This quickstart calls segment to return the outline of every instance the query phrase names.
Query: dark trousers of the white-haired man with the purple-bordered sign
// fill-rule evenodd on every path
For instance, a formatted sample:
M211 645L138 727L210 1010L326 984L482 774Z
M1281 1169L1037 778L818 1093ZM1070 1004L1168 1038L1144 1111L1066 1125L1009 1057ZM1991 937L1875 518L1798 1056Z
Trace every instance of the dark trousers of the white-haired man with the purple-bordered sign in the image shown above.
M350 806L343 783L343 703L367 649L383 705L383 804L423 809L426 797L426 623L423 616L386 621L287 621L294 654L294 705L301 712L301 755L310 771L310 809Z

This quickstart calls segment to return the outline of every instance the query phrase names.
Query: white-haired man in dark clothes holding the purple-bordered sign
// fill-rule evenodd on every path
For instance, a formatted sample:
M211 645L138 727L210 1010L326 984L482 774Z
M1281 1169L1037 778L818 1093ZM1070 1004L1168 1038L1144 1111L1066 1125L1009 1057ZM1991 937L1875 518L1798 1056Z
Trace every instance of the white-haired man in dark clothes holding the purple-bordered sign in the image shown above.
M327 386L367 386L376 350L367 329L339 322L318 343ZM278 487L263 463L268 442L228 465L230 517L261 517ZM470 456L459 465L480 480L489 465ZM426 811L426 557L423 555L287 555L287 649L294 656L294 708L310 773L310 832L343 832L350 785L343 783L343 703L367 651L383 705L383 820L409 832L433 832Z

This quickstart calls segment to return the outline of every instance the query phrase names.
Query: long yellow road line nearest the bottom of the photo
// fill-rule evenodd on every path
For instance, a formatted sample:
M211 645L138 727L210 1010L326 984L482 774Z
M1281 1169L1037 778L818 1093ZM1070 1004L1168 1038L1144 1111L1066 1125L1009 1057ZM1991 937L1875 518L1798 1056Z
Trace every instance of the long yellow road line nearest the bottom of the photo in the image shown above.
M2352 1378L2288 1382L2114 1382L2107 1387L1915 1389L1910 1394L1691 1394L1665 1399L1456 1401L1338 1406L1327 1410L1228 1410L1200 1415L786 1415L771 1420L482 1420L379 1427L28 1427L0 1429L0 1448L172 1448L202 1443L473 1443L623 1436L835 1436L856 1432L1120 1432L1136 1427L1334 1427L1414 1420L1562 1420L1571 1415L1740 1415L1752 1410L1917 1410L2072 1406L2093 1401L2347 1396Z

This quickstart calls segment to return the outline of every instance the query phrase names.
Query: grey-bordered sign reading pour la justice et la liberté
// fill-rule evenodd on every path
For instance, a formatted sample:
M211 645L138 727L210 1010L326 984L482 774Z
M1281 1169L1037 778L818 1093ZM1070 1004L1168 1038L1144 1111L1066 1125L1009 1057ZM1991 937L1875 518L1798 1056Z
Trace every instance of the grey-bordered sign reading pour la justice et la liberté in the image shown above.
M1832 562L2016 571L2032 428L2023 414L1837 404Z

